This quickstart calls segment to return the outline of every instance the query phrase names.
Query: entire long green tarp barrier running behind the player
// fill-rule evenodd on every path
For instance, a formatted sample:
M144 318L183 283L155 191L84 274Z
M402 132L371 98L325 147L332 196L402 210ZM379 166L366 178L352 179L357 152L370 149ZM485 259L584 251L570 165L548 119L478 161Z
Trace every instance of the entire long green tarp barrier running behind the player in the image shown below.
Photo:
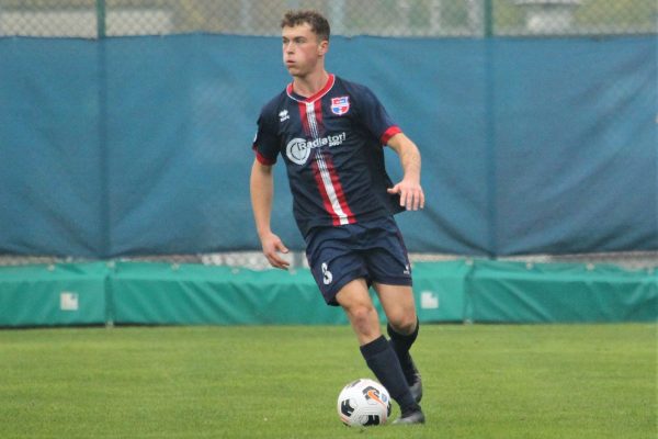
M579 263L413 264L421 322L658 320L658 272ZM382 313L378 302L377 308ZM0 326L347 324L308 270L146 262L0 267Z

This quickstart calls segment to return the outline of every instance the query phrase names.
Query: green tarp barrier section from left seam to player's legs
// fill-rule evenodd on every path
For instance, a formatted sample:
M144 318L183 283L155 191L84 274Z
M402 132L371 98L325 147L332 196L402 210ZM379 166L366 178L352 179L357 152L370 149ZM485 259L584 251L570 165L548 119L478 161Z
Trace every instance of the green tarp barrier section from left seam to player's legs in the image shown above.
M308 270L120 263L111 281L118 324L337 324Z

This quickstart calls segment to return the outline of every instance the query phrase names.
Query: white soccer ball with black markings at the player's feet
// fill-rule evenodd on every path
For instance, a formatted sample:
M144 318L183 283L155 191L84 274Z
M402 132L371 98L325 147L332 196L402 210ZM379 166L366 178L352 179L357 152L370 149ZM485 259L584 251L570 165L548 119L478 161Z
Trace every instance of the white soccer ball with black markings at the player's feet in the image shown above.
M350 427L384 425L390 416L390 396L382 384L362 378L338 395L338 416Z

